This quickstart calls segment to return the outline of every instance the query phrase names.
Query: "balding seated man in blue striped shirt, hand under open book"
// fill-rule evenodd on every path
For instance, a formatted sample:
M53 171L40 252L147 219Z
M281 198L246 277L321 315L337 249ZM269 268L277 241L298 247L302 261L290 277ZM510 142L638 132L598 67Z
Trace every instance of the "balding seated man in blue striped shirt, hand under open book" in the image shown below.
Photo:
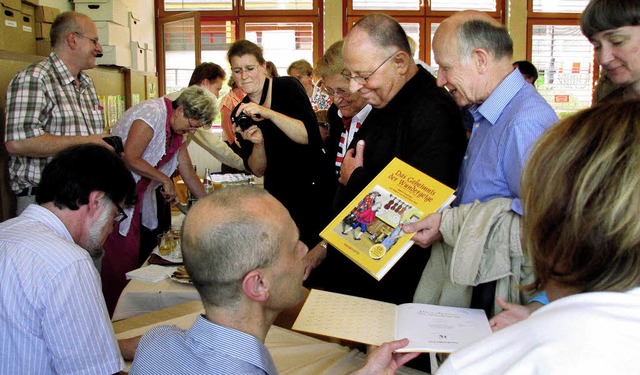
M307 247L286 208L264 189L217 190L189 210L182 233L205 314L188 330L148 331L130 374L277 374L264 340L278 314L306 295ZM384 344L358 373L392 373L417 355L393 353L407 344Z

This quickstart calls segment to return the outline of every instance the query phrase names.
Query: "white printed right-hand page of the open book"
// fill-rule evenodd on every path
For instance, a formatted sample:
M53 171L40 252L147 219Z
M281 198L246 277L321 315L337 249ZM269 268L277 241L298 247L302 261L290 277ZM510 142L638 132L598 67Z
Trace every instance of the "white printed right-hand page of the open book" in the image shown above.
M491 333L483 310L407 303L398 306L396 338L409 338L401 351L450 353Z

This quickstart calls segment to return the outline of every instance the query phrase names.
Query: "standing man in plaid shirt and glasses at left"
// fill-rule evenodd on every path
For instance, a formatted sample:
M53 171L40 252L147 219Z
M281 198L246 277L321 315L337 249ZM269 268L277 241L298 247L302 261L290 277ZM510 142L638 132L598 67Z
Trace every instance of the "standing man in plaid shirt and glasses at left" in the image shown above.
M58 151L80 143L111 148L102 140L107 135L96 89L83 72L102 54L97 35L89 17L60 14L51 28L53 52L9 83L5 142L18 214L35 203L42 170Z

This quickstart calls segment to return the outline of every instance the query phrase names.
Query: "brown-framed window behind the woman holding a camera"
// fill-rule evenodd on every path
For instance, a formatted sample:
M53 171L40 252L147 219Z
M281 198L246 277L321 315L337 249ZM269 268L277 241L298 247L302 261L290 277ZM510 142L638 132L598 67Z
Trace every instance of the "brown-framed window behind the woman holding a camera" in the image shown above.
M227 71L226 53L238 39L264 50L281 75L297 59L314 63L322 54L321 0L162 0L158 1L159 84L163 93L186 87L201 62ZM221 95L229 88L223 85Z

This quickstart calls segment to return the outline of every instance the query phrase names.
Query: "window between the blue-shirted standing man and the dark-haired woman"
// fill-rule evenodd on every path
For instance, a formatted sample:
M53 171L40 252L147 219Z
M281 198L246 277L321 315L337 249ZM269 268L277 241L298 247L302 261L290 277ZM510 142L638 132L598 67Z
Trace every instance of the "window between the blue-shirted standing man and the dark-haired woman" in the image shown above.
M560 118L589 107L597 63L580 31L588 0L529 0L527 59L538 68L536 87Z

